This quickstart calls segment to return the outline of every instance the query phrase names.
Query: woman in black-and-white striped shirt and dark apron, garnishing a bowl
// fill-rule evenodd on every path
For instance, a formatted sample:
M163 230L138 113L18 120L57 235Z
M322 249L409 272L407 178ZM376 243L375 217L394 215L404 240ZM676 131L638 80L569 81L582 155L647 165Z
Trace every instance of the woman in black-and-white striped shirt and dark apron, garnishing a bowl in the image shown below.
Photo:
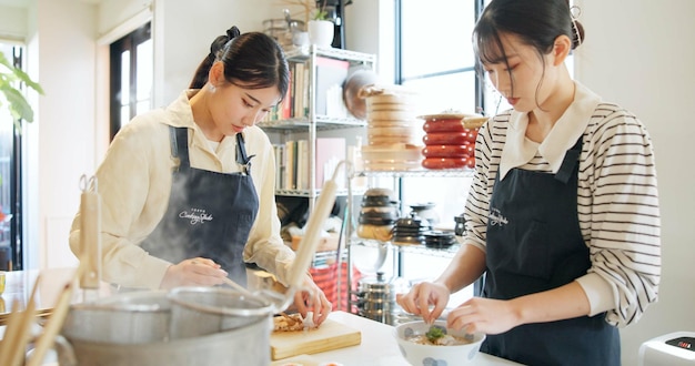
M577 13L566 0L484 9L473 47L513 108L479 132L461 250L397 296L431 322L481 278L480 297L456 304L447 325L487 334L482 352L526 365L621 365L618 327L658 294L652 141L634 114L570 77L564 61L585 40Z

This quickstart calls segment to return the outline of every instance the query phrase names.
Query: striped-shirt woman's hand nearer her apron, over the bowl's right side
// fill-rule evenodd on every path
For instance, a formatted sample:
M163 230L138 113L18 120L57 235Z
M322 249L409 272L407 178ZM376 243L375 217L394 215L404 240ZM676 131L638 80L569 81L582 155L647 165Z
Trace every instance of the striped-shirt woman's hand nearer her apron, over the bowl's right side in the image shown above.
M520 325L520 316L511 301L473 297L449 313L446 326L465 328L466 333L504 333Z

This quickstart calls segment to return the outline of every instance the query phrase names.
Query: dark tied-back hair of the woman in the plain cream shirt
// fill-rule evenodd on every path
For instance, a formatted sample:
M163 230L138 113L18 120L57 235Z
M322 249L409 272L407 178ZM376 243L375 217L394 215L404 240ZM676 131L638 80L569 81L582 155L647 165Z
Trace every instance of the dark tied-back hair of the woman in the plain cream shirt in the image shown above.
M224 63L224 79L243 88L278 87L283 98L290 85L288 60L282 48L271 37L261 32L241 34L232 27L226 34L215 38L210 53L198 65L190 89L201 89L208 82L214 61Z

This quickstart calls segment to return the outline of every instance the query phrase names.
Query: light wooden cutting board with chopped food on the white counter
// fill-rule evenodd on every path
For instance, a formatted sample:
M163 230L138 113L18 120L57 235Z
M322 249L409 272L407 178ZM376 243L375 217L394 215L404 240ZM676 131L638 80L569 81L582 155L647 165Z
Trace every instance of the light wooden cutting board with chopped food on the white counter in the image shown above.
M318 329L299 332L273 332L270 335L270 353L273 360L296 355L356 346L362 333L342 323L326 319Z

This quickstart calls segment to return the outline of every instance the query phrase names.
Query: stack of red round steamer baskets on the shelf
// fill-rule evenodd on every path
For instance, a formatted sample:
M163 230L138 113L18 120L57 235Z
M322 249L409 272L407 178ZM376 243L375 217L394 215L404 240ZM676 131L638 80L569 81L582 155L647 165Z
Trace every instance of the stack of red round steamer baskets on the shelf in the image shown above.
M475 167L475 139L487 118L477 114L421 115L425 120L422 166L433 170Z

